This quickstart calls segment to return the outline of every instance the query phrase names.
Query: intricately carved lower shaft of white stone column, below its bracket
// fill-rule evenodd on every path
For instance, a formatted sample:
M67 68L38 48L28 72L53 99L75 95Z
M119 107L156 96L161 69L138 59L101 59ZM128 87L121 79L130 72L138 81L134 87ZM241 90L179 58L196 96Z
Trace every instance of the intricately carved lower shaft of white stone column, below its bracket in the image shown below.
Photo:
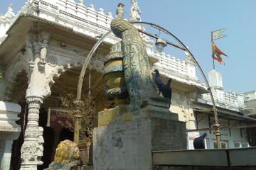
M27 92L28 94L28 92ZM43 103L41 96L26 96L28 102L28 124L21 147L21 169L37 169L43 164L43 128L38 126L39 109Z

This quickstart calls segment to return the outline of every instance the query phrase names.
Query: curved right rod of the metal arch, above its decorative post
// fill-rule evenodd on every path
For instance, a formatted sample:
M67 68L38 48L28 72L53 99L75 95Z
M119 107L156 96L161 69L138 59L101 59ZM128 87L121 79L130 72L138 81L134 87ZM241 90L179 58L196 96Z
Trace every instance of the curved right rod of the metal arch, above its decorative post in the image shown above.
M153 28L156 28L158 30L161 30L163 31L164 33L168 34L168 35L171 35L172 38L174 38L174 40L176 40L185 50L186 52L188 52L189 55L191 55L191 57L193 58L194 62L196 63L196 66L198 67L198 69L200 70L202 76L203 76L203 79L206 81L206 86L208 87L208 91L210 92L210 98L211 98L211 101L213 102L213 112L214 112L214 118L215 118L215 126L220 126L220 124L218 123L218 113L217 113L217 108L215 106L215 101L214 101L214 98L213 98L213 93L210 89L210 85L208 83L208 80L206 79L206 75L203 73L203 69L201 68L201 66L198 64L198 61L196 60L195 57L193 57L192 53L190 52L190 50L188 50L188 48L183 44L183 42L181 42L181 40L178 40L178 38L176 38L175 35L173 35L171 32L169 32L169 30L166 30L165 28L161 27L161 26L158 26L154 23L147 23L147 22L132 22L132 23L142 23L142 24L146 24L146 25L149 25L149 26L152 26Z

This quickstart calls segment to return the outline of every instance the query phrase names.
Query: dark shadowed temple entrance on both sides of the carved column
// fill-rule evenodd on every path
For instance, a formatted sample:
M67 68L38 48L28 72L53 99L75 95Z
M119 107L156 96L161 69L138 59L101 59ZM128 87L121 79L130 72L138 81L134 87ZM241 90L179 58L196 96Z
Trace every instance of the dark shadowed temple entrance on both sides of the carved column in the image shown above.
M48 108L61 107L60 95L69 93L76 93L78 85L78 77L80 74L80 67L69 69L62 74L58 79L55 79L55 84L51 86L51 95L43 101L39 114L39 126L43 127L43 157L41 160L43 164L38 166L38 169L46 169L48 165L53 162L55 149L63 140L73 140L73 132L66 128L54 128L47 126ZM91 77L90 91L91 95L95 98L97 111L94 116L93 124L97 126L97 112L102 111L102 108L108 108L111 103L105 101L104 87L102 73L96 70L87 69L82 86L82 93L87 94L89 91L89 77ZM20 120L17 121L21 125L21 133L18 140L15 140L12 147L11 155L11 170L18 170L21 167L21 146L23 144L23 132L26 129L28 108L26 103L26 89L28 87L26 72L22 72L16 79L18 85L11 94L11 101L21 105L21 113L19 114ZM18 94L18 95L17 95Z

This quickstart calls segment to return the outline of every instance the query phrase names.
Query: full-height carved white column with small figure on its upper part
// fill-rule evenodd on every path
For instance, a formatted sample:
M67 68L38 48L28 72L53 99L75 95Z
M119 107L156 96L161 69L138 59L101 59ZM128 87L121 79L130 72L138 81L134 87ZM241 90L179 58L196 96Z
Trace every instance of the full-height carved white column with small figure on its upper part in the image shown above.
M28 123L24 134L24 142L21 147L21 169L33 170L43 164L43 128L38 126L39 110L43 99L50 95L46 89L47 75L45 71L45 59L47 55L47 44L50 35L41 33L41 38L32 40L33 62L30 62L31 72L26 91L28 103Z

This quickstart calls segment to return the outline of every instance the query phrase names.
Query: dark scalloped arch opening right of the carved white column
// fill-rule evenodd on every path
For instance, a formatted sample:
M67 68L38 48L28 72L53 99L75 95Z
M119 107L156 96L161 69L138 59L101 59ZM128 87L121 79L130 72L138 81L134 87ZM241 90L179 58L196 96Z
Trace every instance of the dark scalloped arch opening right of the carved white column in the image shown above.
M80 65L72 66L68 69L65 69L65 72L61 72L61 74L58 76L58 78L54 79L54 84L50 86L51 94L46 98L43 102L43 105L41 108L43 108L41 112L44 112L44 114L47 115L48 108L58 108L61 107L60 103L60 95L65 94L76 94L77 86L78 86L78 77L80 75L81 67ZM90 74L90 75L89 75ZM82 94L87 94L89 91L89 77L91 77L91 86L90 91L91 95L95 97L96 105L97 105L97 112L102 111L102 108L108 107L110 103L105 101L104 97L104 89L105 84L102 77L102 72L96 69L87 69L85 78L83 81L82 86ZM40 117L39 123L41 123L43 120L46 119L45 116ZM97 126L97 114L95 115L94 119L94 125ZM64 129L58 129L58 128L48 128L45 124L41 124L41 126L44 128L43 138L45 140L45 146L48 146L48 148L44 148L44 155L47 153L47 156L42 157L42 161L44 162L42 166L38 166L38 169L45 169L48 167L48 164L53 161L53 154L55 152L55 148L57 147L58 143L61 140L73 140L73 132L72 135L70 135L70 132L68 130L65 130L65 133L63 133ZM68 135L67 135L68 134ZM48 138L48 136L52 136L51 138ZM53 139L54 138L54 139Z

